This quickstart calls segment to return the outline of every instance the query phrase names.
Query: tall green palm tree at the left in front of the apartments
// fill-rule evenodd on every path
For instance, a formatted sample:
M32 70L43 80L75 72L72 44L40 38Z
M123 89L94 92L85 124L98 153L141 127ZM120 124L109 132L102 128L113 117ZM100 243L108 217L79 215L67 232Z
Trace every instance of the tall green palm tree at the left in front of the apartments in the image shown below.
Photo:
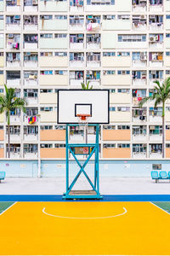
M8 124L8 158L10 158L10 111L15 108L20 108L24 113L26 113L26 101L23 98L15 96L14 88L7 88L4 84L6 95L0 96L0 113L7 113L7 124Z

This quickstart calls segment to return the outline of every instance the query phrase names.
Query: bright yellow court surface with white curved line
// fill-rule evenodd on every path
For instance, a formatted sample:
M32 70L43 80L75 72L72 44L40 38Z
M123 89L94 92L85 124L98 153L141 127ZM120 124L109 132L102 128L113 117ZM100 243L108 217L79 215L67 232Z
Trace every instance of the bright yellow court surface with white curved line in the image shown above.
M170 255L170 215L150 202L17 202L0 255Z

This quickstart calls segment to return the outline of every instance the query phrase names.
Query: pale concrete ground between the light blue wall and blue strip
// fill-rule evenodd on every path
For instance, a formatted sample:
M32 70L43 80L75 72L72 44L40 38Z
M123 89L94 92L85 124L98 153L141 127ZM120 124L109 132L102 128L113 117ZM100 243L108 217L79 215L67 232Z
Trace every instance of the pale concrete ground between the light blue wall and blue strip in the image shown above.
M75 189L89 189L82 180ZM65 177L6 177L0 195L62 195ZM101 177L102 195L169 195L168 181L155 183L150 177Z

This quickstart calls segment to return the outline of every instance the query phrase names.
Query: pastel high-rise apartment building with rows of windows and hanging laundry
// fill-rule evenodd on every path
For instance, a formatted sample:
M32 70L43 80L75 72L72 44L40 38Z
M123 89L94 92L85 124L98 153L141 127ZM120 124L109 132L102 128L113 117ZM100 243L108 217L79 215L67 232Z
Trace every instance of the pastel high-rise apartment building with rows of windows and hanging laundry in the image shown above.
M10 113L11 159L65 159L57 92L109 89L111 124L100 127L100 159L161 159L161 106L139 101L170 76L169 0L0 1L0 93L26 97ZM170 157L170 102L166 105ZM88 129L93 142L94 127ZM71 142L83 143L82 127ZM7 119L0 115L0 158L8 158Z

